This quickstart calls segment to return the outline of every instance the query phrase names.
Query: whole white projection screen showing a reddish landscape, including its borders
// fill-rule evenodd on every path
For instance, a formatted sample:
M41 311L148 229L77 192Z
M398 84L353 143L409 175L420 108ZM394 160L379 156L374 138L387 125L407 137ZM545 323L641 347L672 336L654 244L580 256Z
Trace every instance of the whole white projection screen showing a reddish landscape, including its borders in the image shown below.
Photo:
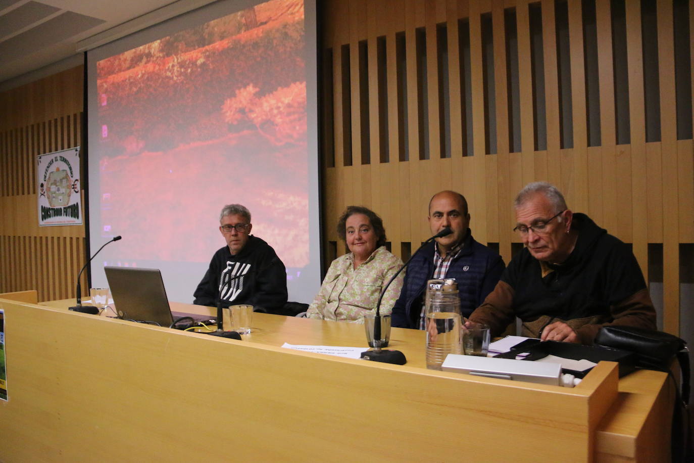
M92 286L104 265L162 271L192 302L225 245L223 205L287 267L289 300L320 285L314 1L222 0L87 52Z

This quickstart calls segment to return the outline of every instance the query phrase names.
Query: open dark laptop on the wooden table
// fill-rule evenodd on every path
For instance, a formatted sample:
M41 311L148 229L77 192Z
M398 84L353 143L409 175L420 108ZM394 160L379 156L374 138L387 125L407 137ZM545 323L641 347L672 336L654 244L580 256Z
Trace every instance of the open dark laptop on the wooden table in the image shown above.
M171 326L174 319L192 317L194 321L211 321L216 317L171 312L159 269L136 267L103 267L111 296L120 317L126 320ZM190 323L187 323L190 326ZM177 328L186 328L186 326Z

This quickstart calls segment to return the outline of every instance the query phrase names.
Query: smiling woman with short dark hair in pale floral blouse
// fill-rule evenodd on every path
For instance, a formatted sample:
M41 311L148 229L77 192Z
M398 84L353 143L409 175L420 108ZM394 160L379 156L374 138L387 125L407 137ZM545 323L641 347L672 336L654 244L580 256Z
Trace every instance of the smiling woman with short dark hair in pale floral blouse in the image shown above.
M385 248L383 221L367 208L348 206L337 222L337 234L350 252L330 264L307 317L363 323L364 315L375 310L382 287L403 261ZM382 315L391 313L402 287L403 273L400 273L383 296Z

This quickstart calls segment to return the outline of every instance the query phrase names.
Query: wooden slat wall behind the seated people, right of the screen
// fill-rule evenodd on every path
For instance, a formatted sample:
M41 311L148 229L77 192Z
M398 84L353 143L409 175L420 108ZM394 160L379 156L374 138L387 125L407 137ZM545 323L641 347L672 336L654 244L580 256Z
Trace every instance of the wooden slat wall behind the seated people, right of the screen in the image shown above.
M359 203L373 208L384 218L391 249L400 255L402 244L414 251L429 236L426 222L427 203L432 194L452 188L463 193L470 203L471 227L480 242L498 243L506 262L511 244L518 238L511 233L515 217L511 201L518 190L533 180L557 185L575 211L586 212L609 232L633 244L634 254L648 278L648 244L663 245L663 329L679 332L679 245L694 241L694 151L692 140L677 140L675 106L675 52L672 31L672 0L657 1L659 98L661 141L646 142L646 119L641 31L641 3L625 2L627 58L629 63L629 144L616 144L616 112L613 75L611 2L595 2L598 40L598 81L600 114L589 115L586 103L584 67L584 24L582 1L568 0L568 30L571 67L573 146L560 146L559 64L555 29L555 0L541 0L543 22L544 96L547 149L534 146L532 110L532 68L528 0L332 0L324 12L323 45L332 49L333 99L332 127L335 140L335 167L323 162L323 219L326 242L338 242L335 232L337 215L347 205ZM505 47L505 9L516 8L518 73L521 106L521 152L509 152L509 115L507 86L507 49ZM694 0L689 1L690 28L694 32ZM485 154L484 74L482 69L482 15L491 14L493 24L494 90L496 102L496 153ZM474 155L464 156L465 128L461 124L459 85L458 20L469 22L471 41L471 87L473 108ZM441 158L437 75L437 24L448 28L448 77L450 90L450 133L452 158ZM427 40L428 112L427 126L418 123L418 87L416 67L416 29L425 28ZM409 160L398 159L398 101L396 33L404 32L407 47L407 123L409 124ZM375 74L375 37L384 35L388 57L385 63L388 85L388 134L378 133L378 86ZM359 126L359 40L369 46L369 120L371 121L371 160L362 165L359 154L361 137L369 128ZM351 85L351 127L353 165L342 158L341 128L345 112L339 107L342 45L349 44ZM691 47L694 54L694 44ZM694 60L692 61L694 62ZM694 80L693 80L694 85ZM600 146L589 146L586 117L599 117ZM381 125L382 126L382 125ZM429 134L430 159L423 159L419 137ZM379 162L378 136L389 137L388 162ZM328 150L326 153L332 153ZM407 249L407 246L405 246ZM338 254L345 251L338 244ZM326 262L327 263L327 262Z

